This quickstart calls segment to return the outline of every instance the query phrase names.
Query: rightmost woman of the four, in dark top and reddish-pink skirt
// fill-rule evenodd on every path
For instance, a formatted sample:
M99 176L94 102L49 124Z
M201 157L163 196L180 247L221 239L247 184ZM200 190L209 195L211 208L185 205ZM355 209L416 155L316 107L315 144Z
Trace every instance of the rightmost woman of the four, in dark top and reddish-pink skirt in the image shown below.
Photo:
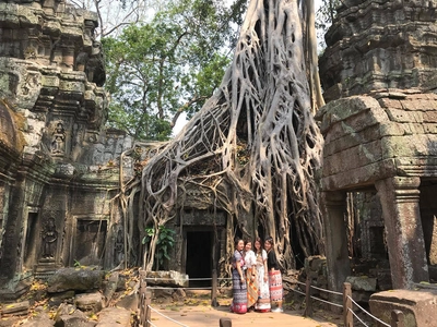
M267 267L269 269L270 302L276 304L272 312L284 312L282 308L282 276L271 237L265 239L264 247L267 251Z

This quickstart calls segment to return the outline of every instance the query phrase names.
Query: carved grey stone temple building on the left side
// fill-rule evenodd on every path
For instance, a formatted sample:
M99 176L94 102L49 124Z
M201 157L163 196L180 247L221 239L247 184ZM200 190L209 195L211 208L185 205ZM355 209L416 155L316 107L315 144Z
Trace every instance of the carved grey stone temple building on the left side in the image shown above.
M63 0L0 3L0 296L19 296L32 275L122 259L109 204L132 141L102 131L96 26Z

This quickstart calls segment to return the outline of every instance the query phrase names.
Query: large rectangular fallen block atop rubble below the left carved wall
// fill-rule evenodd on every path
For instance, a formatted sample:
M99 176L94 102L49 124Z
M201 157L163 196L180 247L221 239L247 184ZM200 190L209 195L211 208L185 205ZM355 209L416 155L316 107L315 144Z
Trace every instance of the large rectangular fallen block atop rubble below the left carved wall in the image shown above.
M47 291L56 293L96 290L101 288L104 275L105 271L95 268L61 268L48 279Z

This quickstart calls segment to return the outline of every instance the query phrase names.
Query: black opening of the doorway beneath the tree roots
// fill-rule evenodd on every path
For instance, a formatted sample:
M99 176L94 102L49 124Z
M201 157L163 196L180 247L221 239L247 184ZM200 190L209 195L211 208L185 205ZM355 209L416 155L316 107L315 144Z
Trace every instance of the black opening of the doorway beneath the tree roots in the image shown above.
M190 278L190 288L211 287L212 238L211 231L187 232L186 274Z

